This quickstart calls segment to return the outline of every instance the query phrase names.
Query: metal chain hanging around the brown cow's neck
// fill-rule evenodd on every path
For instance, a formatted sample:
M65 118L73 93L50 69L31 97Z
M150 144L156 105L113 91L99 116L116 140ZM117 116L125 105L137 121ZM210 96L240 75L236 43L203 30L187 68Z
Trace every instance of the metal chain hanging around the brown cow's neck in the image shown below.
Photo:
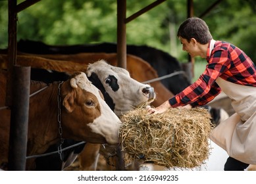
M59 123L59 135L60 135L60 139L61 139L61 143L58 147L58 152L59 152L59 156L61 158L61 160L63 160L61 154L63 152L62 146L63 146L63 128L61 127L61 85L63 84L63 81L61 81L59 83L59 87L58 87L58 96L57 96L57 101L58 101L58 123Z

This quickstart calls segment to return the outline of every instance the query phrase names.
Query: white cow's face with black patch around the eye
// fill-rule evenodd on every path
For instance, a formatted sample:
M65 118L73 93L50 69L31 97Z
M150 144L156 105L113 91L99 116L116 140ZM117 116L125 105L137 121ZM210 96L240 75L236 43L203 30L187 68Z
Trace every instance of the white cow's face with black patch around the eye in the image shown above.
M89 64L86 74L101 90L117 116L155 100L153 87L132 79L127 70L107 64L104 60Z

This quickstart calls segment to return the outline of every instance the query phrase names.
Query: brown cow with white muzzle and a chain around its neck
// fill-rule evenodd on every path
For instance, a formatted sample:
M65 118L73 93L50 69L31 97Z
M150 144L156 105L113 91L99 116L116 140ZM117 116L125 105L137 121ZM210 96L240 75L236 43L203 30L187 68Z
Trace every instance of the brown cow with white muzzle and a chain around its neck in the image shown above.
M6 74L0 72L0 106L5 103ZM31 81L34 93L45 83ZM58 109L57 97L61 97ZM41 154L59 141L58 111L61 110L62 137L90 143L116 144L122 126L116 114L105 103L101 92L83 72L70 80L51 83L40 93L30 97L27 155ZM0 166L8 162L10 110L0 110ZM6 169L6 168L5 168ZM33 159L27 160L27 170L34 169Z

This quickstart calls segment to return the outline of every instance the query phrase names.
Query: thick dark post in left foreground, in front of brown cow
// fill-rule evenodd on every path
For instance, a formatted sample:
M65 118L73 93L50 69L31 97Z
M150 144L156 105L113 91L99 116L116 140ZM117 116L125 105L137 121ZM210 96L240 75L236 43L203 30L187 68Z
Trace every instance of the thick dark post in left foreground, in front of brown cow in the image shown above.
M23 171L26 170L30 66L14 66L13 72L8 170Z

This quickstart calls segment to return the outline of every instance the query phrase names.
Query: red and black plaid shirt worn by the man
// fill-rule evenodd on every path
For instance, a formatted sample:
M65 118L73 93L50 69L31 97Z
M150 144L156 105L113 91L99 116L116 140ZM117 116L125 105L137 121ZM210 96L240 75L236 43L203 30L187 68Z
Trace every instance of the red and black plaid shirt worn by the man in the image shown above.
M234 45L216 41L213 51L207 50L207 66L197 81L169 99L172 107L201 106L212 101L221 91L215 82L223 80L256 87L256 66L245 53Z

